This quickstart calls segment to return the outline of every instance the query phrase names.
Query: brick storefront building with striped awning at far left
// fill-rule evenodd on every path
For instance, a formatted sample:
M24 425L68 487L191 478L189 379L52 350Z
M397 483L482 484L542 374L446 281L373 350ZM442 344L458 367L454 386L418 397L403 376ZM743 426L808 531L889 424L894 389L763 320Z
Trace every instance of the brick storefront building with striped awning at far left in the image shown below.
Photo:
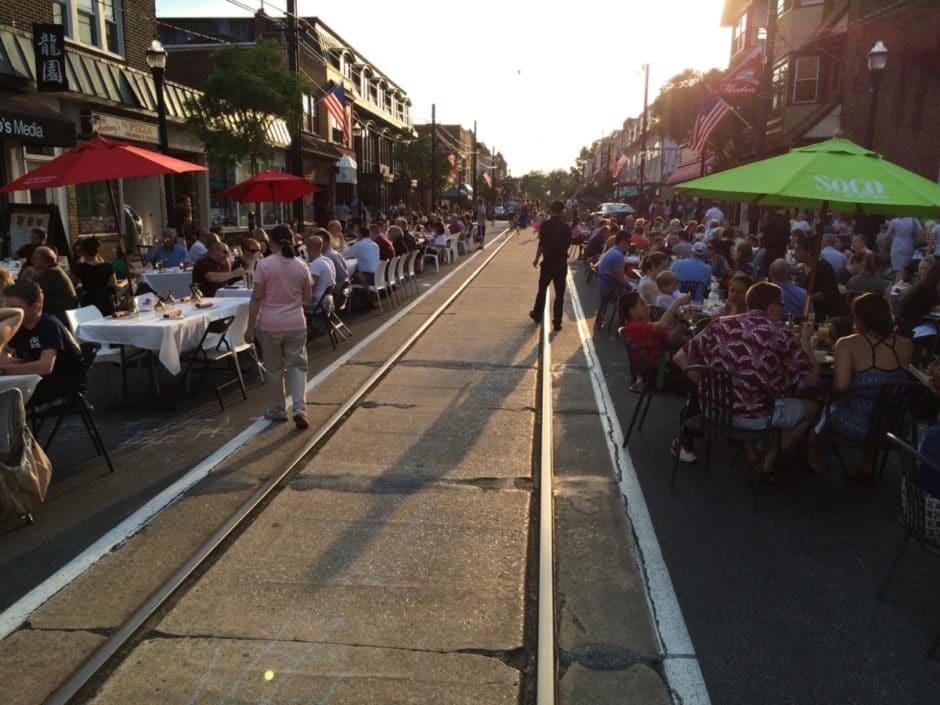
M68 90L39 93L31 46L34 23L62 24L66 37L65 67ZM156 36L153 0L77 0L36 2L5 0L0 3L0 113L35 119L45 129L44 138L24 139L0 134L0 182L6 183L31 171L70 147L90 138L95 126L107 137L158 150L156 91L146 62L146 50ZM191 90L166 85L169 152L188 161L199 161L202 146L183 125L183 104ZM69 139L63 130L69 128ZM205 178L184 174L175 178L177 193L194 200L196 222L205 222L202 205ZM118 198L141 216L144 236L159 231L168 221L166 190L157 177L123 180ZM65 236L108 234L117 230L104 184L21 191L0 195L0 232L5 246L15 249L11 213L29 206L53 204L61 214ZM133 219L123 214L127 231ZM135 233L136 235L136 233ZM130 239L134 244L134 238Z

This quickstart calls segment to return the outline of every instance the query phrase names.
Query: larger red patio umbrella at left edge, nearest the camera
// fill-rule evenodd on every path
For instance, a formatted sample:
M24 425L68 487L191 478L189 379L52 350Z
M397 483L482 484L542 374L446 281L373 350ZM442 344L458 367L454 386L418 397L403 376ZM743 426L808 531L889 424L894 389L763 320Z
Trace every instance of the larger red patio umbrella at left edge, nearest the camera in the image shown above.
M0 193L53 188L91 181L130 179L138 176L183 174L189 171L207 171L206 167L182 159L175 159L149 149L94 137L85 144L70 149L52 161L33 169L25 176L11 181Z

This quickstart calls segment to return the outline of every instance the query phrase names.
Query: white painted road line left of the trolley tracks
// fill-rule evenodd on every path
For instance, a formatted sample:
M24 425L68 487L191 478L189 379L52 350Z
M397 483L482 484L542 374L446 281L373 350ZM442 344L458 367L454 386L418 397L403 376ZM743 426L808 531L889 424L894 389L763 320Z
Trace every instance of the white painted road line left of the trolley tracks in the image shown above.
M486 243L486 247L493 245L507 232L509 231L504 230L493 237L489 242ZM430 294L439 287L443 286L451 277L456 275L466 265L470 264L480 254L481 253L479 251L475 251L473 254L469 255L459 266L454 268L452 272L446 274L424 293ZM348 352L337 358L332 364L323 368L319 374L317 374L315 377L312 377L307 382L307 391L309 392L311 389L321 384L331 374L336 372L336 370L349 362L353 357L358 355L363 348L365 348L367 345L370 345L374 340L379 338L388 329L398 323L398 321L408 315L418 304L422 303L422 301L423 297L421 295L416 296L410 304L392 316L388 321L382 324L382 326L373 331L370 335L363 338L357 345L353 346ZM128 538L140 531L155 516L157 516L157 514L179 499L198 482L205 479L223 461L225 461L231 455L235 454L235 452L248 443L252 438L261 433L269 425L271 425L271 423L272 422L266 421L263 418L255 421L244 431L235 436L235 438L223 445L201 463L194 466L189 472L179 478L176 482L164 489L160 494L140 507L124 521L108 531L108 533L104 534L92 545L78 554L75 558L59 568L59 570L57 570L39 585L23 595L23 597L21 597L19 600L10 605L6 610L0 613L0 639L6 639L10 634L19 629L20 626L22 626L29 619L30 615L39 609L39 607L41 607L43 604L45 604L45 602L53 595L76 580L79 576L82 575L82 573L91 568L109 552L114 550L116 546L123 543Z

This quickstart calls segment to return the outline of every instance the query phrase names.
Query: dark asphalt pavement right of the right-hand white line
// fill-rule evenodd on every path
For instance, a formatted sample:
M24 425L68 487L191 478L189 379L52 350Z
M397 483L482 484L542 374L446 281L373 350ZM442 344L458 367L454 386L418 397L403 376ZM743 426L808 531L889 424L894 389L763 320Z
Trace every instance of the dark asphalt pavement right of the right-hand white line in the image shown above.
M596 289L580 263L571 269L591 317ZM594 342L625 427L635 401L626 353L607 331ZM720 448L707 472L683 465L672 491L679 409L678 399L654 399L630 454L712 702L940 702L940 661L926 655L940 630L940 560L912 544L876 599L902 537L896 460L874 487L838 477L828 515L822 478L795 459L756 507Z

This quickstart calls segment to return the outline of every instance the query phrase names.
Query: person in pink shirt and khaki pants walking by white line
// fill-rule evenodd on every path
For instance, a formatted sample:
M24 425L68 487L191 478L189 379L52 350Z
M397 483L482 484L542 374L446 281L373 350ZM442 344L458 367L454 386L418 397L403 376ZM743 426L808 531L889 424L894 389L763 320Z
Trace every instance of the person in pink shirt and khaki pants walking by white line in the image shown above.
M245 342L251 343L255 326L267 371L269 421L286 421L284 381L291 394L294 424L299 430L309 424L306 414L307 321L304 309L312 301L310 272L294 253L293 233L286 225L271 232L272 256L255 268L254 289L245 327Z

